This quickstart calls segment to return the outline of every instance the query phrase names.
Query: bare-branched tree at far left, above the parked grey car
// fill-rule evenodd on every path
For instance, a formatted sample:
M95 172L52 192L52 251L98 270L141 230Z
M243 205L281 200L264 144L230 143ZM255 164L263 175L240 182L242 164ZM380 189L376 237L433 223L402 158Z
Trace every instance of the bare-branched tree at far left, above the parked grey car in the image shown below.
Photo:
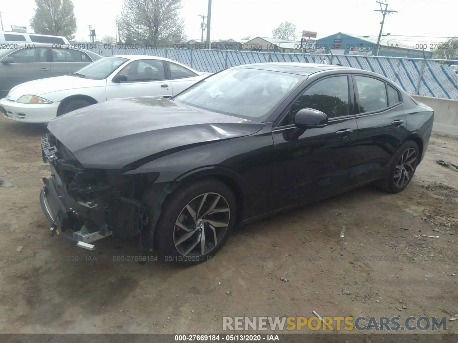
M76 17L71 0L35 0L35 5L30 21L35 33L75 38Z

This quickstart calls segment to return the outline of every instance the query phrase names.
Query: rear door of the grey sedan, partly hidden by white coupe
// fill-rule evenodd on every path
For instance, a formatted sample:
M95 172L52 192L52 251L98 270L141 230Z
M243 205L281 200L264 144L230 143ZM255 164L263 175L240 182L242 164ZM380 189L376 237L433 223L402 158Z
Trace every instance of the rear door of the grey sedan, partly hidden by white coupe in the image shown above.
M52 48L51 51L51 76L68 75L92 62L87 54L76 49Z

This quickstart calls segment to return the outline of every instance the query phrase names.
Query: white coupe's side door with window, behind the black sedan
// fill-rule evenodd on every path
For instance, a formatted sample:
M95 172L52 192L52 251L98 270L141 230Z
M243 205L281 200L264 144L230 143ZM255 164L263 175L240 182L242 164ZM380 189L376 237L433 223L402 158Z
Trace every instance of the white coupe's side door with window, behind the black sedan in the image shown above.
M172 85L166 80L166 65L160 59L139 59L127 64L116 75L125 75L126 81L107 79L107 100L136 96L173 95Z

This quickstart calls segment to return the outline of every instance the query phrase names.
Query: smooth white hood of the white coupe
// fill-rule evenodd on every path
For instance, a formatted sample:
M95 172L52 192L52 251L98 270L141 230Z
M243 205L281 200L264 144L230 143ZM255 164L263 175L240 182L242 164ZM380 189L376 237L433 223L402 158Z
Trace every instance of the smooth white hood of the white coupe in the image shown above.
M7 99L16 101L23 95L43 95L55 91L97 86L100 80L62 75L21 83L11 89Z

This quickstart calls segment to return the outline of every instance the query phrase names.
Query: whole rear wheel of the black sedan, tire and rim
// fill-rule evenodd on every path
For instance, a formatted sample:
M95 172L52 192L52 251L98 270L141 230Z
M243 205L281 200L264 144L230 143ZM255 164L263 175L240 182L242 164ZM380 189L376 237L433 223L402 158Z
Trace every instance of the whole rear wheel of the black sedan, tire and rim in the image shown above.
M403 191L414 177L419 159L418 145L408 140L393 156L387 177L376 182L376 186L389 193Z

